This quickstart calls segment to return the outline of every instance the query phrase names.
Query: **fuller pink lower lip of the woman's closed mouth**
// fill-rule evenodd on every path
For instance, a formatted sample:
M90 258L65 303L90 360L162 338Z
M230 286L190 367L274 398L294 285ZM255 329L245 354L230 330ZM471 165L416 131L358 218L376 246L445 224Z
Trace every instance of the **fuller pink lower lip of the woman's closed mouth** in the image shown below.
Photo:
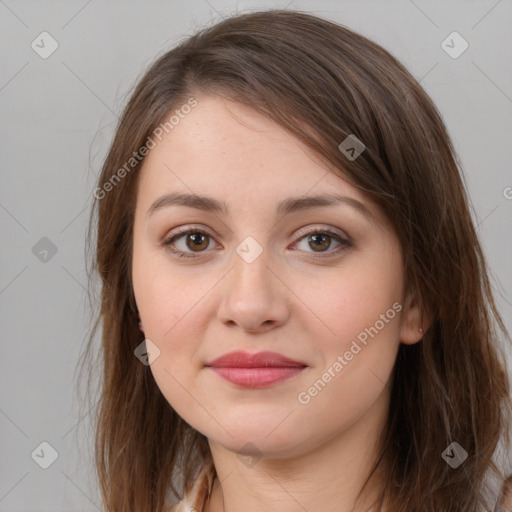
M265 368L233 368L210 367L223 379L245 388L264 388L290 379L299 374L305 367L265 367Z

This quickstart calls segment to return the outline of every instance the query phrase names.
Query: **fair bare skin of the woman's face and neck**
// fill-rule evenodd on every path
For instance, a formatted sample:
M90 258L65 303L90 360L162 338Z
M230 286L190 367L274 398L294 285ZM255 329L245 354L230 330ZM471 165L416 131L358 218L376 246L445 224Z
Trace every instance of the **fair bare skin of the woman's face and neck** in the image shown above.
M427 327L404 291L398 239L376 204L273 121L219 97L196 98L145 159L132 270L145 336L160 350L154 378L209 440L219 480L207 511L368 510L378 478L353 507L379 448L397 350ZM153 201L170 192L214 197L230 213L174 205L148 217ZM275 215L282 199L323 193L362 202L373 220L343 204ZM199 249L191 235L174 241L195 258L162 245L180 226L207 235ZM302 228L330 228L351 246L334 237L315 242ZM248 236L262 249L251 263L236 252ZM396 302L401 311L300 403L298 394ZM279 352L307 368L263 389L205 368L236 349Z

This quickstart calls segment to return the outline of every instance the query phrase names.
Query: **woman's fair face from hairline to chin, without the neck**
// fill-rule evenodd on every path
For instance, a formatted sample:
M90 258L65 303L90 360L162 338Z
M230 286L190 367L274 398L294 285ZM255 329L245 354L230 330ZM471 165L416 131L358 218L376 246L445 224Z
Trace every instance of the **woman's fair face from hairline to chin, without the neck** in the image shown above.
M197 99L140 176L132 270L145 337L160 351L150 368L210 441L306 453L386 404L399 343L419 339L400 246L384 213L281 127ZM168 194L196 200L161 200ZM197 196L225 211L198 208L212 203ZM344 199L304 202L313 196ZM291 199L295 208L278 209ZM232 351L300 365L207 366Z

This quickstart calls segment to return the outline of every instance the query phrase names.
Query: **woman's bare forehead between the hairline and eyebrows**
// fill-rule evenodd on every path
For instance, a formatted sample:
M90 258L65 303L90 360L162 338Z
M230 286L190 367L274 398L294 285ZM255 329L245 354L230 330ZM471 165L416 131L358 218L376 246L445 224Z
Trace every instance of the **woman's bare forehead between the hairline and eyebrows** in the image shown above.
M144 203L164 193L195 193L245 209L285 197L341 194L379 217L366 194L274 121L219 97L197 102L145 158Z

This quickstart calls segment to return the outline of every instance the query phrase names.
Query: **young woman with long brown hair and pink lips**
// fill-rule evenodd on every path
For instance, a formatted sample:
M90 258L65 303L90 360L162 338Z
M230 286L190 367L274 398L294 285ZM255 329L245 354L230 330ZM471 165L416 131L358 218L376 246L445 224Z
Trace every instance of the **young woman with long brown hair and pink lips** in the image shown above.
M160 57L91 218L106 510L505 506L510 338L458 166L417 81L327 20Z

